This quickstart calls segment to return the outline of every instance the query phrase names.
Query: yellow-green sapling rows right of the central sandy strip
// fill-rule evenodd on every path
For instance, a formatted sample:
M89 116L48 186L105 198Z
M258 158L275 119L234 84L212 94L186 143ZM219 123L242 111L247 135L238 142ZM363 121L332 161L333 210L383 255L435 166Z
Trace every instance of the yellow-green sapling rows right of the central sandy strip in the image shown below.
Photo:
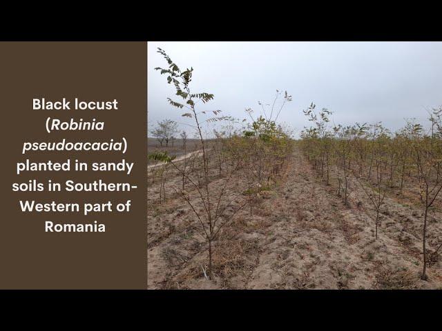
M381 208L389 192L407 187L419 197L423 209L421 279L427 279L427 265L436 259L442 243L427 249L428 212L442 189L442 108L432 110L429 126L406 121L394 134L381 123L354 126L330 125L332 112L311 106L304 111L313 125L302 131L300 144L318 176L329 185L332 169L338 195L349 203L350 179L363 189L374 208L375 239Z

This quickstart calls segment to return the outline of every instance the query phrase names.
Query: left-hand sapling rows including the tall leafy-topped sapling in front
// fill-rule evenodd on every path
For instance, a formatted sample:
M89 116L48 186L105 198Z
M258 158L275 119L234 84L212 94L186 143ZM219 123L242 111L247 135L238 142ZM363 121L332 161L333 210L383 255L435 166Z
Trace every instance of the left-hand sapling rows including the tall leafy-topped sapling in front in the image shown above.
M273 108L256 119L252 111L247 110L251 123L244 125L244 120L240 122L240 130L232 131L235 119L221 116L219 110L200 110L214 96L191 90L193 68L181 70L164 50L158 49L158 52L168 66L155 70L166 75L167 83L173 86L175 92L175 99L168 98L167 101L182 111L182 117L191 121L199 138L199 147L193 157L180 162L165 152L155 152L149 158L162 161L163 169L173 169L182 177L180 185L175 185L173 190L186 201L200 223L209 252L208 265L201 265L201 268L206 278L213 279L213 246L222 229L231 225L243 208L249 206L250 213L253 213L256 197L271 185L289 154L292 141L285 130L276 124L276 119L284 104L291 101L291 96L285 92L280 108L273 109L276 105L273 102ZM280 95L282 93L277 91L276 99ZM276 114L274 118L273 110ZM226 130L213 130L215 137L206 139L203 128L213 123ZM164 197L167 176L164 176L164 172L161 176ZM247 182L245 190L238 190L238 185L235 185L241 177ZM235 186L236 190L233 189Z

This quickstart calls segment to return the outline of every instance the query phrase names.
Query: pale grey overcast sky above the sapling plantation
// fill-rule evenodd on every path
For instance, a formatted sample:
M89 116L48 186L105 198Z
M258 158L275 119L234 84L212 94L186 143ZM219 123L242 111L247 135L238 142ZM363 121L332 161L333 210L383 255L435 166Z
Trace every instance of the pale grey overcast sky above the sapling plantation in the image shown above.
M334 112L335 123L382 121L392 130L442 105L441 42L148 42L149 130L165 118L191 123L166 101L175 92L154 70L167 66L157 47L193 67L193 91L215 94L200 110L243 119L245 108L259 114L258 101L287 90L293 101L278 121L297 132L309 126L302 110L311 102Z

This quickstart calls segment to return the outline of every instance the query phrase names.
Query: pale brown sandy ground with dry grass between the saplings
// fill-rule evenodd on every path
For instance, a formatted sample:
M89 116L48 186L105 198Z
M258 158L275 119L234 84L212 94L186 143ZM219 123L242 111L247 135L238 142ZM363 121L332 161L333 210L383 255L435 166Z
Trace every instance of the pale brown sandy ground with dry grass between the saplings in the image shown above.
M213 185L222 178L213 176ZM180 185L170 175L166 185ZM229 190L245 188L238 175ZM350 206L336 185L321 183L294 150L273 189L260 197L253 215L236 215L215 243L215 279L204 277L206 243L200 225L180 197L156 203L148 188L148 288L413 289L442 288L442 263L421 272L422 211L406 194L386 198L379 238L373 210L356 181ZM406 191L406 190L405 190ZM193 194L190 192L189 194ZM194 194L195 195L195 194ZM195 199L194 197L193 199ZM432 210L430 250L442 242L441 212Z

